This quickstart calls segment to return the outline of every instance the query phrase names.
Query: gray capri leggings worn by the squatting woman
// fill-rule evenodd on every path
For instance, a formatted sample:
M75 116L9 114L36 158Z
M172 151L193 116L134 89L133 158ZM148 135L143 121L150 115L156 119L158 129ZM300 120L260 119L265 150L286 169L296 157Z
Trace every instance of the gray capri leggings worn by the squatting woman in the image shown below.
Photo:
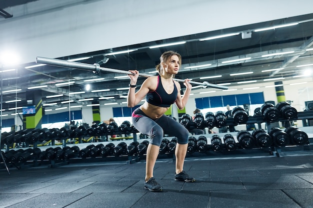
M150 144L160 146L164 134L177 138L178 144L188 143L188 130L174 119L162 115L158 119L147 117L140 108L135 109L131 115L132 125L142 134L151 137Z

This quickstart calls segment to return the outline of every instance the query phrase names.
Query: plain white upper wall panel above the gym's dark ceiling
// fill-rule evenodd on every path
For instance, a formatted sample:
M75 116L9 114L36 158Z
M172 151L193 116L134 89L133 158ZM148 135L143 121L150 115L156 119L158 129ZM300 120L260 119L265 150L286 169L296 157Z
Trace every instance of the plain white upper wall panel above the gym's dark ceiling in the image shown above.
M19 63L28 63L36 56L62 57L307 14L308 5L311 0L38 0L5 9L13 17L0 19L0 54L15 51Z

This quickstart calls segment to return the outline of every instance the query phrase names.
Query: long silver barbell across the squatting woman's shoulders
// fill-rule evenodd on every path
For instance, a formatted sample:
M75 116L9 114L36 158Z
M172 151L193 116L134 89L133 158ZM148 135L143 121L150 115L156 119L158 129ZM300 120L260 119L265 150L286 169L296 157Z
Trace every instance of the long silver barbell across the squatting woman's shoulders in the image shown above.
M125 70L100 67L98 63L87 64L87 63L79 63L79 62L66 61L66 60L60 60L60 59L54 59L54 58L44 58L44 57L38 57L38 56L36 57L36 63L46 64L46 65L51 65L51 66L58 66L58 67L75 68L75 69L80 69L80 70L92 71L94 73L99 73L100 70L102 70L102 71L109 71L109 72L120 73L120 74L134 75L133 73L129 71L125 71ZM154 75L139 73L139 76L151 77ZM173 80L177 82L184 82L183 79L174 78ZM223 89L223 90L228 89L228 87L220 86L217 84L211 84L206 81L204 82L189 81L189 83L202 85L203 88L212 87L212 88Z

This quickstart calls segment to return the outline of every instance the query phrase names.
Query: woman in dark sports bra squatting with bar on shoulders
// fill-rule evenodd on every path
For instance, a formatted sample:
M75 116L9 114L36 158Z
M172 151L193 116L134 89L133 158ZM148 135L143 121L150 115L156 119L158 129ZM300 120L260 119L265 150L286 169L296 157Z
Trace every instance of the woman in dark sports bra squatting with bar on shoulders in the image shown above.
M173 51L164 52L160 56L160 64L156 66L159 75L144 80L136 93L135 87L139 72L129 70L134 75L128 75L130 84L127 106L134 107L146 96L145 102L132 112L132 124L140 133L149 135L151 138L146 153L144 188L152 192L159 192L163 189L153 177L153 168L164 133L177 137L175 181L195 181L183 171L188 146L188 131L177 121L164 115L173 103L179 109L183 109L189 98L191 84L188 81L190 80L184 80L183 84L186 86L186 90L182 97L180 95L180 84L173 80L173 76L178 73L180 66L181 56L178 53Z

